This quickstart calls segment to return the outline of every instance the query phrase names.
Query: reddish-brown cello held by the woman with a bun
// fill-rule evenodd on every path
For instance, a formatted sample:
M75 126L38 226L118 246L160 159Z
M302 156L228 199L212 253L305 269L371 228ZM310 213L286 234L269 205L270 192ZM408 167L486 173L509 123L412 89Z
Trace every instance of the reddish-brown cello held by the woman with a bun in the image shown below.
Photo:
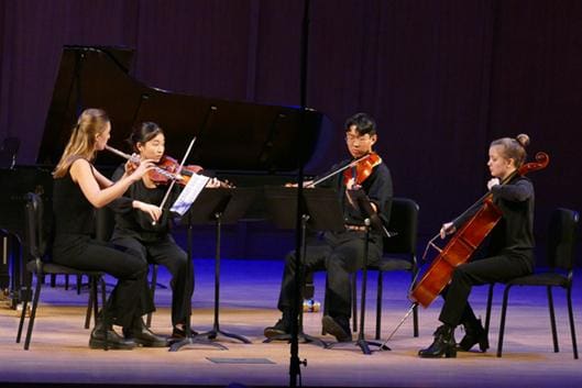
M525 176L528 173L543 169L549 164L549 156L543 152L536 154L536 162L526 163L520 166L514 174L505 179L502 185L509 181L515 175ZM437 257L431 262L429 268L425 271L419 281L414 281L414 287L408 299L413 302L410 310L406 313L403 320L398 323L396 329L391 333L388 339L384 342L382 348L386 348L386 343L392 339L394 333L404 323L406 318L413 312L418 304L428 308L430 303L440 295L451 280L454 268L459 265L469 262L481 243L487 237L490 232L495 228L501 220L503 213L493 203L493 193L487 191L480 198L474 206L481 204L481 208L469 219L462 228L460 228L454 235L449 240L443 248L439 248L433 244L433 241L440 235L432 237L425 250L422 258L426 257L429 247L433 247L439 252Z

